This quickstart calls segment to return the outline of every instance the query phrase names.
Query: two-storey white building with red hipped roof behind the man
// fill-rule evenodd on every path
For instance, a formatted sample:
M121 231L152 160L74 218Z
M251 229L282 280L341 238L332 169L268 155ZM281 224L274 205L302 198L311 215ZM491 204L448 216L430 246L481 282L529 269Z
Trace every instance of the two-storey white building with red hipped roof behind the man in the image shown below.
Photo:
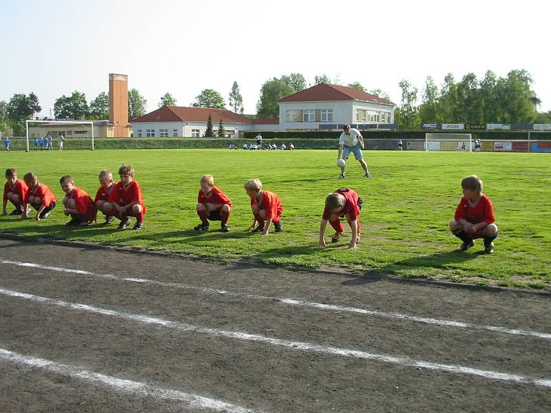
M347 123L360 129L394 123L395 104L354 87L320 83L278 100L280 130L340 130Z

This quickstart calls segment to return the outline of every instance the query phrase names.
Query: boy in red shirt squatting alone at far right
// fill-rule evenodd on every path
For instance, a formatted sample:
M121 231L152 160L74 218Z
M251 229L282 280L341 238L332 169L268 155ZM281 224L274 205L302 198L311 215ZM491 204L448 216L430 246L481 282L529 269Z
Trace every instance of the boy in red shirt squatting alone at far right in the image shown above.
M476 238L484 238L484 252L494 252L493 241L497 237L497 225L492 201L482 193L482 180L471 175L461 181L463 198L455 209L455 219L450 222L453 235L463 241L459 247L467 251L475 245Z

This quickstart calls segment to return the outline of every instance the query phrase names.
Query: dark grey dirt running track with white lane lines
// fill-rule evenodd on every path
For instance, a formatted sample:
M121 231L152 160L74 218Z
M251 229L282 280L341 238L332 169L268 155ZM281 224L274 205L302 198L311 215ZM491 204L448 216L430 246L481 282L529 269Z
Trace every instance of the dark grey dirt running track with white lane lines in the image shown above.
M549 304L0 240L0 412L548 412Z

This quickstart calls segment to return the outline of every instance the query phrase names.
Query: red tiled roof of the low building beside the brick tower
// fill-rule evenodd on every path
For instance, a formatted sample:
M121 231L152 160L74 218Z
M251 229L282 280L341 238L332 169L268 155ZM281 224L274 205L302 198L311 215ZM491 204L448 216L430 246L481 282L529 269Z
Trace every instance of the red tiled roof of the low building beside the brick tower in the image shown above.
M132 123L138 122L207 122L211 115L213 123L247 123L251 119L238 115L227 109L212 109L210 107L184 107L184 106L163 106L133 119Z

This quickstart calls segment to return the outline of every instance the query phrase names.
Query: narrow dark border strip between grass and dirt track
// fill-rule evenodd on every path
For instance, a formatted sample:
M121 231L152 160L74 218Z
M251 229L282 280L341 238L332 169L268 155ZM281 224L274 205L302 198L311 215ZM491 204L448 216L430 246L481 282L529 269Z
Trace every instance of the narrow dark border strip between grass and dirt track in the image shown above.
M242 266L253 266L256 268L280 268L286 271L298 271L298 272L308 272L308 273L317 273L322 275L340 275L342 277L349 277L351 279L360 280L365 279L369 281L386 281L386 282L395 282L399 284L418 284L418 285L428 285L428 286L439 286L446 288L461 288L466 290L484 290L490 291L493 293L515 293L521 295L541 295L544 297L551 297L550 290L530 290L530 289L521 289L514 287L506 286L482 286L477 284L469 283L459 283L459 282L449 282L449 281L440 281L435 279L422 279L422 278L408 278L408 277L399 277L397 275L389 275L388 273L381 272L380 275L365 275L362 273L353 273L345 271L342 268L309 268L302 266L286 266L282 264L262 264L254 259L242 258L239 260L215 260L211 257L202 257L200 255L186 254L186 253L171 253L168 251L151 251L145 248L136 248L132 246L118 246L110 244L98 244L94 242L84 242L84 241L70 241L70 240L55 240L45 237L28 237L27 235L17 234L17 233L3 233L0 232L0 239L3 240L12 240L12 241L23 241L23 242L34 242L36 244L52 244L59 246L78 246L79 248L87 249L99 249L99 250L110 250L117 251L122 253L130 254L141 254L141 255L156 255L158 257L170 257L176 258L178 260L194 260L194 261L203 261L210 262L212 264L237 264Z

